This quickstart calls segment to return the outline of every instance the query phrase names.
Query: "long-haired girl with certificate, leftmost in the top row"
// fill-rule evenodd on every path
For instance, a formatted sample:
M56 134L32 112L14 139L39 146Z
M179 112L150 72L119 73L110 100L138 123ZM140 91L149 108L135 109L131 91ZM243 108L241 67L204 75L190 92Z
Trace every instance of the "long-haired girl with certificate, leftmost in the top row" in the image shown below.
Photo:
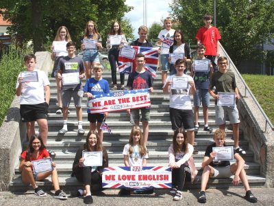
M65 26L61 26L56 32L53 44L51 45L51 59L54 60L51 77L55 77L57 84L57 101L59 108L58 111L56 111L56 114L58 115L62 114L61 80L57 78L57 71L59 69L58 64L60 58L62 58L63 56L68 56L68 52L66 52L66 43L68 43L69 41L71 41L71 35L69 35L69 30ZM62 49L62 45L64 49Z

